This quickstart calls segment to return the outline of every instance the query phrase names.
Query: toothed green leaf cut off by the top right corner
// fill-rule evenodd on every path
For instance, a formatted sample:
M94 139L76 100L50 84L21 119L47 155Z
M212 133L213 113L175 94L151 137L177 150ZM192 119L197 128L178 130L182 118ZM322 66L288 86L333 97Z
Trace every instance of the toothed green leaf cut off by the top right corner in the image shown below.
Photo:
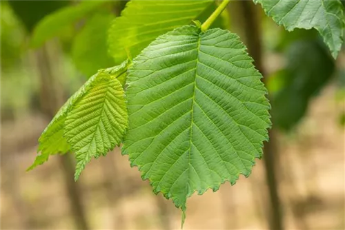
M324 38L334 58L342 48L344 12L339 0L253 0L286 30L315 28Z

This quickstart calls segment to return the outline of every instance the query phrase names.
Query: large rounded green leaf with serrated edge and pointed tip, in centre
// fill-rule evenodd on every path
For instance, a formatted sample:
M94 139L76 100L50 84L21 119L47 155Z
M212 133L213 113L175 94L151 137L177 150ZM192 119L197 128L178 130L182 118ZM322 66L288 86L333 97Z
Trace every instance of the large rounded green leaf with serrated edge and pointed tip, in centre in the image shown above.
M194 25L159 36L128 70L123 154L155 193L186 198L249 176L270 126L266 88L236 34Z

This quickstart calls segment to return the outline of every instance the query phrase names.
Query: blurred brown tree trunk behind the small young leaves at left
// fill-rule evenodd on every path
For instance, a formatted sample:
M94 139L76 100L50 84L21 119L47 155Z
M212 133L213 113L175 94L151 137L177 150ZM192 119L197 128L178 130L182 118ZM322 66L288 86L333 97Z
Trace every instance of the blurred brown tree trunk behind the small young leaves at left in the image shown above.
M42 48L37 50L37 67L39 70L40 77L40 101L41 110L43 114L46 114L48 118L52 118L57 113L59 107L63 105L63 88L59 83L59 78L56 72L53 72L51 66L52 63L56 63L59 52L54 52L50 55L48 48L49 45L55 45L55 43L47 43ZM55 51L58 51L57 49ZM66 187L66 194L70 200L70 209L72 211L72 216L75 220L75 225L77 229L88 230L88 223L86 221L86 216L83 211L82 201L81 201L81 191L79 189L79 182L74 181L74 166L69 154L64 156L59 156L60 164L63 169L63 176Z

